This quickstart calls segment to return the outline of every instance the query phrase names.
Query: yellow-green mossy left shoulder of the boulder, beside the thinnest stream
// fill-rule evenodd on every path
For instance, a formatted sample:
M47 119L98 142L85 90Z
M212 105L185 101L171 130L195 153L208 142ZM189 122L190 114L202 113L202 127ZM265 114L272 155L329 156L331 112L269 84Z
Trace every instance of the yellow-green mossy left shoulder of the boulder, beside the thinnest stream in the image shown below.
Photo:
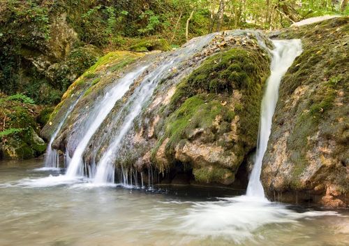
M128 71L128 66L135 61L139 61L140 57L143 56L140 53L119 51L109 52L104 57L98 59L94 66L91 66L70 85L64 93L61 102L54 108L48 124L45 124L40 134L49 140L68 108L81 97L80 103L76 106L77 109L68 117L66 126L79 124L86 111L93 107L95 100L103 94L105 88ZM141 63L141 61L139 62ZM64 131L66 132L61 134L61 138L66 138L64 135L68 134L69 129L66 128ZM73 135L70 138L71 143L73 143L75 136L73 133L69 134Z

